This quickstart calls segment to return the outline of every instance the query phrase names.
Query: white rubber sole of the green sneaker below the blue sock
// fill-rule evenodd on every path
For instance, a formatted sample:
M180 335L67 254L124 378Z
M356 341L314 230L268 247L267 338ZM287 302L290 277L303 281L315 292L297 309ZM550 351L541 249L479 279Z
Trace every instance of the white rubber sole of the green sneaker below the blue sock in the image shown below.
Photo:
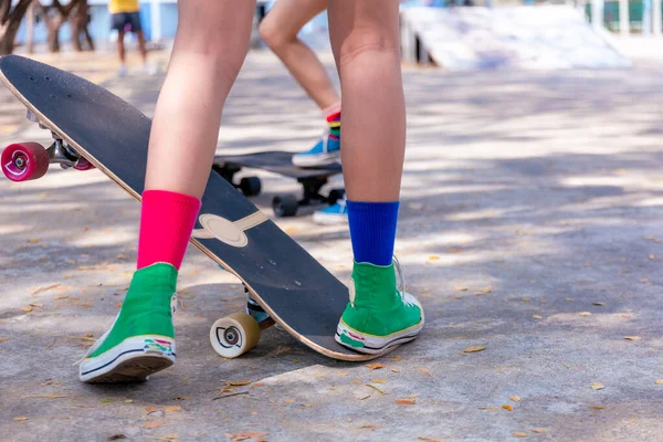
M338 326L336 327L336 341L341 346L351 348L355 351L365 352L369 355L377 355L385 352L392 347L398 347L401 344L414 340L417 336L419 336L421 329L423 328L423 307L421 307L421 304L419 303L419 301L417 301L417 298L414 298L414 296L410 295L409 293L406 293L404 295L409 302L414 302L417 305L419 305L419 308L421 309L421 320L419 322L419 324L406 328L404 330L393 333L389 336L373 336L358 332L349 327L343 320L339 320ZM344 343L341 336L349 338L350 343Z

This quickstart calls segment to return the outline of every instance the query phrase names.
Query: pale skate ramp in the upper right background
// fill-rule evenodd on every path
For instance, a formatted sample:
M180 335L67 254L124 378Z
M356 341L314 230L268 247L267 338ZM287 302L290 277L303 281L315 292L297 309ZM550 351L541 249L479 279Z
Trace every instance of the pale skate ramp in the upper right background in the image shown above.
M402 18L406 59L417 36L419 53L450 71L630 65L570 7L412 8Z

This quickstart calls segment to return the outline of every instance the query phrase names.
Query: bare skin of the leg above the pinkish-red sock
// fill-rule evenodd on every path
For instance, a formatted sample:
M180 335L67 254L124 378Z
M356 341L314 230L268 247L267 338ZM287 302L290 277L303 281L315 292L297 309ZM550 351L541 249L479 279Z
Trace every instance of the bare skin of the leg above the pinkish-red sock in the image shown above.
M146 190L202 196L254 11L255 1L248 0L179 1L179 28L149 140Z

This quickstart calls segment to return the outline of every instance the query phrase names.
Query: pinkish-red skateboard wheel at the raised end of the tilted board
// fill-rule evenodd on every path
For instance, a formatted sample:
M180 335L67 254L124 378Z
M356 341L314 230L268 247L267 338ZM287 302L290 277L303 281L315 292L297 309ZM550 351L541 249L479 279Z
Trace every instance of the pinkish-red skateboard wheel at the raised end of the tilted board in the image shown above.
M2 172L12 181L29 181L49 170L49 152L38 143L9 145L2 150Z

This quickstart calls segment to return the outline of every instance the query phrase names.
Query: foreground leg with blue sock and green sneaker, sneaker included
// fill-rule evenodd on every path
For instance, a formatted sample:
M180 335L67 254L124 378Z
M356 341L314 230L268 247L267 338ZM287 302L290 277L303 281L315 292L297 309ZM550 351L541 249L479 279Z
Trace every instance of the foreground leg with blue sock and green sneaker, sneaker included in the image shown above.
M337 340L379 352L412 340L423 311L396 287L392 264L406 149L399 1L329 0L344 103L343 166L355 253Z

